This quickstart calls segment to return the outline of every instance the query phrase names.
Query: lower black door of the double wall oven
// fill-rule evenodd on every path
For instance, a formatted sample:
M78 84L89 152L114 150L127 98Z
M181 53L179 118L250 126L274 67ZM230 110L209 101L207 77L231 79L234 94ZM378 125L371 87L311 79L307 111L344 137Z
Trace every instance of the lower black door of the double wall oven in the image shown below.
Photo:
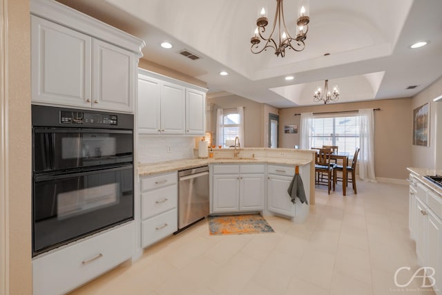
M133 219L133 165L34 176L32 256Z

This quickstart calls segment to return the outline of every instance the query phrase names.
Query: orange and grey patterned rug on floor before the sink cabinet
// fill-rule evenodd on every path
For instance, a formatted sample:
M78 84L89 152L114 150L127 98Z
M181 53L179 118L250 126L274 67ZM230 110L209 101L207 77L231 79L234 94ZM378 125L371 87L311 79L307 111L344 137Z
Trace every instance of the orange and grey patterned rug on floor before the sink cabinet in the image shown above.
M260 214L209 216L211 235L260 234L274 232Z

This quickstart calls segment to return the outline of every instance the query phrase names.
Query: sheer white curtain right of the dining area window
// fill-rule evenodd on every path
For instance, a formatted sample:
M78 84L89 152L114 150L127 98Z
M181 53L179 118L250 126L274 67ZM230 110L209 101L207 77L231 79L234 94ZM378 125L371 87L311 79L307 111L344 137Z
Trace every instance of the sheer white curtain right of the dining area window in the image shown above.
M359 110L359 177L367 182L377 182L374 175L374 115L372 108Z

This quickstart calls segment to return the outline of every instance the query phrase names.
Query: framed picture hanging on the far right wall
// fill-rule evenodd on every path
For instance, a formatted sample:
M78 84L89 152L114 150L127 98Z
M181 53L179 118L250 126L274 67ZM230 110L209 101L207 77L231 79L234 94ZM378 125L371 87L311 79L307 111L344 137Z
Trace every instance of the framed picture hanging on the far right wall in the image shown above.
M413 110L413 144L430 146L430 104Z

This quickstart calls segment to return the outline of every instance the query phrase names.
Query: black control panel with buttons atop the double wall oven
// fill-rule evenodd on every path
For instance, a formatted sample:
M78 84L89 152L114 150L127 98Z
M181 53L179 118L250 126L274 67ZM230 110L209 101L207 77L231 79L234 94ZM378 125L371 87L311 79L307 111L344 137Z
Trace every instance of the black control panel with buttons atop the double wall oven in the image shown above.
M118 116L105 113L60 111L61 124L87 124L88 126L116 126Z

